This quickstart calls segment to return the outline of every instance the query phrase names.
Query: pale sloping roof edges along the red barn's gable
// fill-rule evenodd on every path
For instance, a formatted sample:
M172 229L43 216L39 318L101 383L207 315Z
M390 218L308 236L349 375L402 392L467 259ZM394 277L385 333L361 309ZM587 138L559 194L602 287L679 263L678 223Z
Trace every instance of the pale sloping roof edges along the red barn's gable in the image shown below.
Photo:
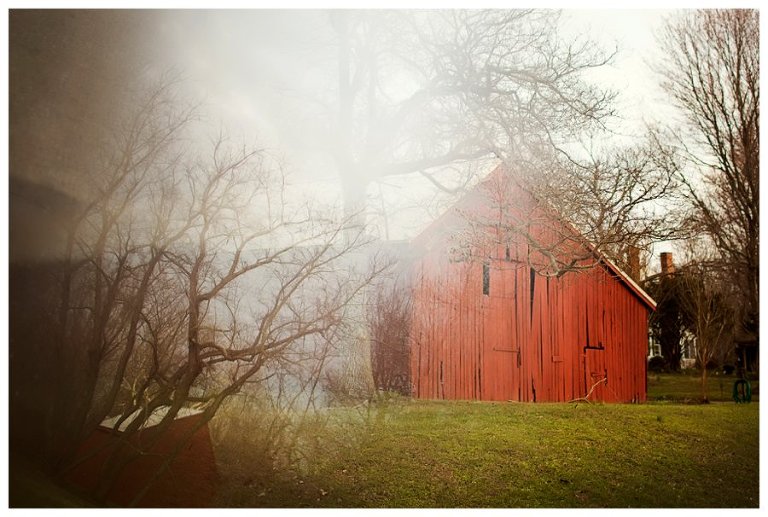
M508 169L504 167L504 165L500 164L497 165L493 171L480 183L475 185L474 188L472 188L467 194L465 194L461 199L459 199L456 203L454 203L448 210L443 212L442 215L440 215L437 219L432 221L421 233L419 233L416 237L411 239L411 245L415 247L428 247L430 241L433 241L435 238L439 238L442 236L441 234L447 233L446 228L451 228L451 223L455 222L460 217L458 216L458 210L463 205L468 204L468 201L470 198L478 196L479 195L479 189L481 185L483 185L484 182L488 181L490 178L493 178L494 176L497 176L499 174L504 173L505 171L508 172ZM534 199L536 203L542 203L540 199L538 199L535 194L533 194L530 189L528 189L524 182L514 174L510 173L510 177L518 184L518 186L526 191L528 194L531 195L531 197ZM554 211L553 211L554 213ZM569 223L562 215L555 214L555 216L559 219L559 221L563 224L565 224L570 230L574 232L574 234L579 235L579 232L576 230L576 228ZM631 291L637 298L640 299L643 304L648 307L649 310L653 311L656 310L656 301L647 293L645 290L640 287L637 282L632 280L632 278L625 273L619 266L617 266L613 261L611 261L608 257L606 257L603 253L601 253L598 249L595 248L595 246L590 243L586 238L583 239L584 246L594 254L595 258L597 259L598 263L602 265L606 270L608 270L610 273L616 276L616 278L619 279L619 281L624 285L629 291Z

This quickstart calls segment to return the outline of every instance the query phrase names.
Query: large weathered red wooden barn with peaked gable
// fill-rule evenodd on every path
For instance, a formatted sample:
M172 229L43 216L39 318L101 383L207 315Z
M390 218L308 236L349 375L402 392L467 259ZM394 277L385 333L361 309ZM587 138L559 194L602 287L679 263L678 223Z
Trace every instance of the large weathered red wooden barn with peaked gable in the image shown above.
M645 400L655 302L504 169L413 245L414 396Z

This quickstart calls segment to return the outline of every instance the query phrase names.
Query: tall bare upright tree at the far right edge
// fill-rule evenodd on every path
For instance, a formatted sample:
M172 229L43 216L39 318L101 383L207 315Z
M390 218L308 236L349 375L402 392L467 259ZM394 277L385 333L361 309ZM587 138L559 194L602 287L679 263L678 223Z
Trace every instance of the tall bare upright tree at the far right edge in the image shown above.
M741 292L742 333L759 331L759 15L698 10L661 36L663 86L685 119L679 179L689 224L719 252Z

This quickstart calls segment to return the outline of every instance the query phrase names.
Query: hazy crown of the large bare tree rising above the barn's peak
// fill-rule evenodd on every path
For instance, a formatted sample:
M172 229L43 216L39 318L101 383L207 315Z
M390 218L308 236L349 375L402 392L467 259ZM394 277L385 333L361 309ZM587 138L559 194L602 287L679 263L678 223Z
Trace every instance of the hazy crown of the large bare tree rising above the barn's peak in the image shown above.
M531 162L579 131L601 127L613 94L581 73L602 66L589 41L563 42L559 14L536 10L330 14L338 116L329 145L357 212L369 182L437 174L483 156Z

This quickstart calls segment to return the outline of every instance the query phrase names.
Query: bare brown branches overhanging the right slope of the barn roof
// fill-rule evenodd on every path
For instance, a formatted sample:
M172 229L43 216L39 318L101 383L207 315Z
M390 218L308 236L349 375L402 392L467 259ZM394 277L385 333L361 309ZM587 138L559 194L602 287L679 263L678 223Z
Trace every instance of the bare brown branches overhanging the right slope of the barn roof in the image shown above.
M664 207L676 192L667 158L648 144L538 173L502 166L459 209L456 247L546 276L589 269L605 257L626 268L632 248L679 233Z

